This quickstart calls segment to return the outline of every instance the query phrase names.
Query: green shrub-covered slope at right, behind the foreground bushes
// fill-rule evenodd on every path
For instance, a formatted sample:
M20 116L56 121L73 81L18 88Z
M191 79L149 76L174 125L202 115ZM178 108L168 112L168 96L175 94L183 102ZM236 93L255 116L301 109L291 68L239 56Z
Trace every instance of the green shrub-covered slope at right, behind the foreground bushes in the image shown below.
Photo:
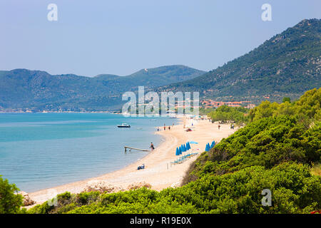
M195 162L187 181L222 175L252 165L271 168L288 161L312 165L321 155L321 88L307 91L295 103L264 101L250 110L251 123Z

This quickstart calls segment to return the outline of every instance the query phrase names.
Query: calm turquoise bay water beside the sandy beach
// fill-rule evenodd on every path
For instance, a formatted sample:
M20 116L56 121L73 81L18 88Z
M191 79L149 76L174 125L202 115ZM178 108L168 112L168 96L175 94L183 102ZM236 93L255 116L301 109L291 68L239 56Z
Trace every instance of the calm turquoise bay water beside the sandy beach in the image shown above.
M124 152L124 145L148 149L161 142L156 126L170 118L125 118L98 113L0 113L0 175L20 190L96 177L118 170L147 152ZM128 123L131 128L117 128Z

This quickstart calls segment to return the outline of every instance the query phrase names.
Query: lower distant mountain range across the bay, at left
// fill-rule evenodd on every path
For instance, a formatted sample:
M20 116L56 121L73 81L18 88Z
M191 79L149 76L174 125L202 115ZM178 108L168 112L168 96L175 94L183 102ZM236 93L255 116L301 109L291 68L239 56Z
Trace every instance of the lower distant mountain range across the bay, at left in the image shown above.
M0 108L34 110L108 110L121 103L121 94L138 86L154 88L205 73L187 66L143 69L130 76L73 74L51 75L45 71L0 71Z

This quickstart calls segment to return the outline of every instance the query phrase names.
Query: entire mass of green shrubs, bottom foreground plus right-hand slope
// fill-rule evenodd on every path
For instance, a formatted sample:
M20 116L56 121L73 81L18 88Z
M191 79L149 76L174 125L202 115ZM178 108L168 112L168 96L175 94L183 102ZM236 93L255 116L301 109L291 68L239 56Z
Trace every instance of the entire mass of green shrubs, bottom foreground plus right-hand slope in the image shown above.
M29 213L310 213L321 208L321 88L294 103L264 102L250 122L190 167L185 185L99 194L69 192ZM225 110L222 108L221 111ZM234 109L231 109L234 112ZM239 110L241 111L241 110ZM225 110L225 112L228 112ZM311 170L313 167L313 170ZM272 192L272 206L262 191Z

